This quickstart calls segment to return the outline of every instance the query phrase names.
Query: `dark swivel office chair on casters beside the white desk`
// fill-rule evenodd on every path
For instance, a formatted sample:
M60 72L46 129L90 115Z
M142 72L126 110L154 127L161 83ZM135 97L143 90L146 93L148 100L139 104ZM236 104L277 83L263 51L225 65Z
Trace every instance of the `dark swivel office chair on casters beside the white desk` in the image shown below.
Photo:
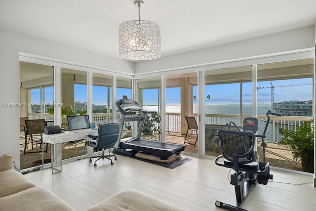
M119 124L118 123L106 123L99 125L98 128L98 135L91 135L88 136L90 139L86 142L86 145L93 147L94 149L100 150L102 149L102 155L101 156L93 156L90 157L90 163L91 158L98 158L96 161L94 161L94 166L96 167L96 162L100 160L101 158L109 159L111 160L111 165L113 165L113 161L109 157L115 158L117 160L117 157L115 156L114 152L114 145L118 141L118 134L119 134ZM110 148L113 147L113 154L110 155ZM104 155L104 150L109 149L109 155Z

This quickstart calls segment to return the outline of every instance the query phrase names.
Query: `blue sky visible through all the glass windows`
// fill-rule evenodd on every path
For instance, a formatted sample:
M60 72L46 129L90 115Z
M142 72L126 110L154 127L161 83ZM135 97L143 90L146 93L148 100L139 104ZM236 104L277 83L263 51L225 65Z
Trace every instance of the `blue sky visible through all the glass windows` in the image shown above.
M274 86L274 102L312 100L312 82L312 78L258 82L257 103L271 104L271 83ZM242 90L242 103L252 104L252 83L243 83ZM107 104L107 94L107 87L93 86L92 103L95 105ZM128 98L131 98L131 89L118 88L117 100L121 99L122 95L127 95ZM197 86L193 88L193 95L196 96L193 102L197 104ZM53 103L53 87L45 87L45 101ZM75 84L75 101L87 102L86 85ZM205 85L204 101L206 105L239 104L239 84ZM32 90L32 103L40 103L40 89ZM143 105L157 104L158 89L144 89ZM180 87L166 89L166 104L180 105Z

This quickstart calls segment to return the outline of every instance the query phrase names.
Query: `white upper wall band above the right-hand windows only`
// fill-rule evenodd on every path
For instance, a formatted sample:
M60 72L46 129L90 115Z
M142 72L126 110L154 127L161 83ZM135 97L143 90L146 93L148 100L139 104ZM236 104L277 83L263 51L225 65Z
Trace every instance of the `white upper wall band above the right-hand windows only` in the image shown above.
M233 42L156 60L138 62L135 74L186 68L219 61L311 48L315 41L315 26L280 32L239 42ZM163 49L163 43L161 43ZM163 55L162 55L163 56Z

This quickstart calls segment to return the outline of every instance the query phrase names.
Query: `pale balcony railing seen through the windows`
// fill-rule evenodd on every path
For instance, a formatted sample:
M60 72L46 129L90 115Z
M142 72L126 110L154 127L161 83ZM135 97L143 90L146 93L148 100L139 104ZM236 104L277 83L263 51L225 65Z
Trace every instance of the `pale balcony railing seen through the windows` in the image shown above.
M92 114L92 121L96 123L109 123L112 121L112 114L109 115L108 120L107 113L97 113ZM197 114L194 114L197 119ZM250 117L250 115L243 115L242 119L245 117ZM29 113L29 119L40 119L42 118L40 113ZM45 114L45 120L53 120L53 115ZM264 127L266 125L267 117L265 115L257 116L259 120L258 134L262 134ZM280 135L278 134L278 128L287 128L295 130L295 127L300 126L302 121L310 120L312 117L294 117L294 116L270 116L270 124L266 132L266 141L269 142L279 142ZM114 122L119 122L120 113L117 115L117 120ZM234 122L238 126L241 126L241 120L239 115L231 114L205 114L205 124L207 125L225 125L226 123ZM124 126L127 129L127 126ZM166 131L169 132L181 132L181 114L180 113L166 113Z

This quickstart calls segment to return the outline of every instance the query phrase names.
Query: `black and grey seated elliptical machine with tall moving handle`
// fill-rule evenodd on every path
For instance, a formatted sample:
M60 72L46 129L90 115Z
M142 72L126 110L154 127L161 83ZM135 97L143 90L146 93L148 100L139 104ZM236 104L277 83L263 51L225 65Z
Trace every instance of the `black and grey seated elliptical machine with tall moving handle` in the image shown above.
M216 201L217 207L230 211L245 211L240 207L251 186L256 183L266 185L268 180L273 178L273 175L270 174L270 163L266 163L265 148L267 144L264 141L270 123L270 115L281 116L269 110L266 113L267 122L262 135L255 134L258 130L258 119L253 117L244 118L241 129L234 122L230 122L226 124L226 130L217 131L217 136L221 141L222 155L216 158L215 164L235 170L235 173L231 174L230 183L235 186L237 201L236 206ZM230 130L232 125L236 127L237 131ZM259 155L254 150L257 137L262 140L263 162L259 161ZM219 163L220 158L224 158L224 162Z

